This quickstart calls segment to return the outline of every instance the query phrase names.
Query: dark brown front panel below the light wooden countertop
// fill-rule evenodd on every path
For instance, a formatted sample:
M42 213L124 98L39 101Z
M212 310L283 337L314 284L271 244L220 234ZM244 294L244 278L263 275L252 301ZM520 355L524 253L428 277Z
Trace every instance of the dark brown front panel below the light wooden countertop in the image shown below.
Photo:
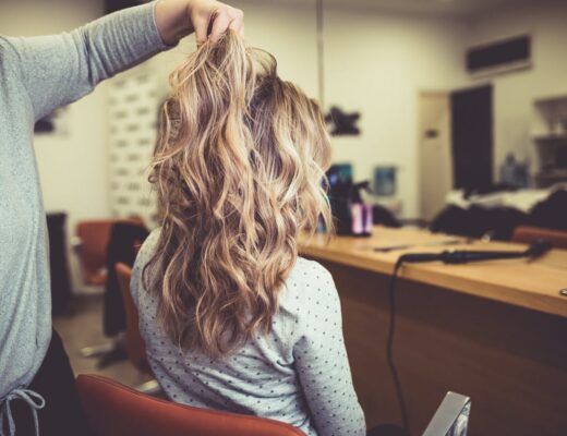
M367 425L399 423L386 365L389 277L322 263L339 290ZM398 284L395 359L412 434L421 434L447 390L472 398L470 436L567 434L566 318L414 281Z

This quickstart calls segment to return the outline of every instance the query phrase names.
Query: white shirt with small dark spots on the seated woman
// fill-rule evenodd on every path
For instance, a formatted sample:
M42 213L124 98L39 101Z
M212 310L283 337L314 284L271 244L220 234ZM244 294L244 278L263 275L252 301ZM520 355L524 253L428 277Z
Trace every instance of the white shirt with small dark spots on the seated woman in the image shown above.
M144 289L142 270L157 238L154 231L138 253L131 291L147 360L171 400L278 420L310 436L366 434L342 338L340 301L323 266L299 257L280 291L270 334L212 360L181 350L156 320L158 299Z

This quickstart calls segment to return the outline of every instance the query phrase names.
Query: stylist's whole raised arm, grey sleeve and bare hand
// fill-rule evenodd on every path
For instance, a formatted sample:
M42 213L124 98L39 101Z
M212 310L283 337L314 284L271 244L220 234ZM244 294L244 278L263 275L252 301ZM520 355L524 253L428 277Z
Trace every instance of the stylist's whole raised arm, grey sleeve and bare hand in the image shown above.
M228 28L243 34L242 11L212 0L159 0L70 33L7 40L38 120L183 36L195 32L197 43L204 43L218 39Z

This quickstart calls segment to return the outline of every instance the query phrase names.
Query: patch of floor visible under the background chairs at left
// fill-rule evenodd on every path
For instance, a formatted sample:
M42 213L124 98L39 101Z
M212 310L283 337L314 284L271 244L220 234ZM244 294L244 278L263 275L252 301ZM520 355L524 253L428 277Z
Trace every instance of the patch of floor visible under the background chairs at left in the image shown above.
M73 314L53 318L53 327L63 339L71 365L79 374L100 374L124 385L135 387L152 377L135 368L130 361L123 360L109 366L97 368L98 359L83 358L83 347L110 341L102 334L102 295L81 295L73 301Z

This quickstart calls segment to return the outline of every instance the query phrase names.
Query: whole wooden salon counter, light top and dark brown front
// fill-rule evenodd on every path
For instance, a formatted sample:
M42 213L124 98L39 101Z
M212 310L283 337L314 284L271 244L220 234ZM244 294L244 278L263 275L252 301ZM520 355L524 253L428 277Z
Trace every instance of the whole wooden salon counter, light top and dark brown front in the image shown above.
M444 250L522 250L377 227L372 238L301 240L334 276L354 386L369 426L399 422L385 350L387 289L398 256ZM376 253L374 247L414 244ZM395 360L419 435L447 390L472 398L470 436L567 435L567 251L534 262L407 265L397 289Z

